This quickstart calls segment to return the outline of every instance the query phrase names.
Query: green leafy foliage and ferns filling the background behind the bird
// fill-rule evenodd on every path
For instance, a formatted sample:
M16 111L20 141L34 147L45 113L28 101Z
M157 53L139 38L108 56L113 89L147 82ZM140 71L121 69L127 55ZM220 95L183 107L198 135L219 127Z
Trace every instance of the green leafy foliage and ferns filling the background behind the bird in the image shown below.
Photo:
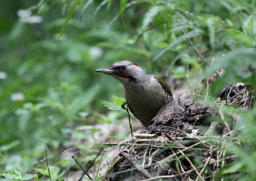
M61 146L94 155L93 143L83 147L76 140L92 139L95 132L104 131L94 127L96 123L118 124L120 112L106 112L103 101L124 96L122 85L94 73L114 62L132 60L149 74L179 80L182 84L177 81L171 87L174 95L175 89L188 85L205 96L206 87L200 83L221 67L226 72L210 88L212 96L234 82L256 87L254 0L37 3L1 1L0 173L14 173L14 167L22 173L32 167L45 169L39 162L44 147L52 153L50 164L67 172L75 164L60 158ZM198 58L186 38L211 67ZM244 66L248 72L240 71ZM252 127L255 112L253 108L242 118ZM248 142L254 143L254 137L255 131L248 128ZM246 150L253 152L253 158L238 162L238 171L250 173L256 163L252 145L248 147L253 150ZM61 170L56 178L64 177Z

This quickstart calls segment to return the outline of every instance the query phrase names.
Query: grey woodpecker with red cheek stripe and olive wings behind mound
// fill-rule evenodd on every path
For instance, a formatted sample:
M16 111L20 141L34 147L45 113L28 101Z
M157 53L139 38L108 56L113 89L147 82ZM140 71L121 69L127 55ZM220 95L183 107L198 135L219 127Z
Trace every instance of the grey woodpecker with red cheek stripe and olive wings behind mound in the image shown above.
M145 127L172 97L170 88L161 78L145 74L134 62L117 62L95 72L113 76L124 85L128 107Z

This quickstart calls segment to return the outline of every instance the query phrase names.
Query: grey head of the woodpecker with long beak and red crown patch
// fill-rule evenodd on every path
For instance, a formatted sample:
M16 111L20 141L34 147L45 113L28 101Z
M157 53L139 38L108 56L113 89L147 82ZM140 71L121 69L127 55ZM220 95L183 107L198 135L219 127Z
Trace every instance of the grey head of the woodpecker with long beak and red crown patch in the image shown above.
M136 82L140 79L140 76L145 75L145 73L140 68L140 66L138 66L138 64L130 61L116 62L109 68L98 69L95 70L95 72L100 72L113 76L124 85L131 82Z

